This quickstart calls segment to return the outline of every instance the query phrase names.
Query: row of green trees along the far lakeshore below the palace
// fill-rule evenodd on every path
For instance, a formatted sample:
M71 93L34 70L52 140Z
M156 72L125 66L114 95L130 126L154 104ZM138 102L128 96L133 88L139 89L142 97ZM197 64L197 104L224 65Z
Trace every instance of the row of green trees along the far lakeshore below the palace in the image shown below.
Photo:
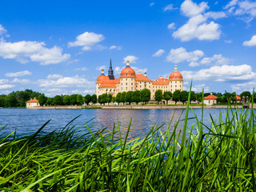
M204 94L204 96L208 96L210 93ZM236 93L213 93L216 95L218 103L227 103L228 100L230 102L236 102ZM247 98L248 100L251 97L250 91L244 91L240 94L241 98ZM37 91L33 90L22 90L22 91L13 91L10 94L2 94L0 95L0 107L25 107L26 102L30 100L30 98L37 98L38 102L41 106L70 106L70 105L82 105L86 103L87 105L92 103L99 102L100 104L110 103L110 102L118 102L119 103L139 103L150 101L150 90L136 90L136 91L128 91L118 93L116 97L112 97L111 94L102 94L99 95L98 99L96 94L86 94L86 96L82 96L82 94L71 94L71 95L56 95L53 98L46 97L45 94L41 94ZM186 102L188 99L188 92L186 90L180 91L175 90L172 94L170 91L162 92L162 90L157 90L154 93L154 99L157 102L161 102L162 100L168 101L171 99L175 103L177 102ZM202 93L194 93L191 92L191 101L202 101ZM254 102L256 102L256 96L254 96Z

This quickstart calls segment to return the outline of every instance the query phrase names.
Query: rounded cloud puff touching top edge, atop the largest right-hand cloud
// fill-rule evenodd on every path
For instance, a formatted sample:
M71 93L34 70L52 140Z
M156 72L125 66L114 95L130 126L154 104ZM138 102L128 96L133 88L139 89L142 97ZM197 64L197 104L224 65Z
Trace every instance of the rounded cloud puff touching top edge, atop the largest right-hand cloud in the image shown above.
M207 9L209 9L209 6L207 6L206 2L201 2L199 5L197 5L191 0L185 0L181 5L182 13L187 17L193 17L198 14L202 14Z

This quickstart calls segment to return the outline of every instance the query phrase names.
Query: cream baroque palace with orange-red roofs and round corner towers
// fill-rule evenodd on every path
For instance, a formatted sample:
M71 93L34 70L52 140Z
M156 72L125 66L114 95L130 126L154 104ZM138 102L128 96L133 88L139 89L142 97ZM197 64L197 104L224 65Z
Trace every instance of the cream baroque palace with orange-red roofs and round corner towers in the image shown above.
M151 80L147 78L146 73L135 73L133 68L130 67L130 62L126 62L126 68L121 71L120 78L115 78L112 70L112 63L110 59L110 69L108 75L102 74L98 76L96 82L96 94L112 94L116 97L118 93L124 91L143 90L144 88L150 90L151 98L154 98L156 90L170 91L174 93L175 90L183 90L183 78L182 74L178 72L177 66L174 66L174 72L172 72L169 78L158 78L157 80Z

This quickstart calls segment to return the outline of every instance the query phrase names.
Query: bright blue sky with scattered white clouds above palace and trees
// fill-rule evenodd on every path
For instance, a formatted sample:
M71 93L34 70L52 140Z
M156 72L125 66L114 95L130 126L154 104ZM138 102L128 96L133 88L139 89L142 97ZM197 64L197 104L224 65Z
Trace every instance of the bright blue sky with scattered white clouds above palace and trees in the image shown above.
M0 6L0 94L94 94L112 59L154 80L178 66L184 90L256 87L256 2L14 1Z

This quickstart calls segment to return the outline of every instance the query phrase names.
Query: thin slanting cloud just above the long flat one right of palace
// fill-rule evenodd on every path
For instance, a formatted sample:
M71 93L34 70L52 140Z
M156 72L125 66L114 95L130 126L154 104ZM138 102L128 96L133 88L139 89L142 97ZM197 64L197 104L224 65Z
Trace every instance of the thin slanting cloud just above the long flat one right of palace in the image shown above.
M214 54L211 58L202 58L200 62L190 62L189 66L200 66L200 65L227 65L230 64L229 58L224 58L222 54Z

